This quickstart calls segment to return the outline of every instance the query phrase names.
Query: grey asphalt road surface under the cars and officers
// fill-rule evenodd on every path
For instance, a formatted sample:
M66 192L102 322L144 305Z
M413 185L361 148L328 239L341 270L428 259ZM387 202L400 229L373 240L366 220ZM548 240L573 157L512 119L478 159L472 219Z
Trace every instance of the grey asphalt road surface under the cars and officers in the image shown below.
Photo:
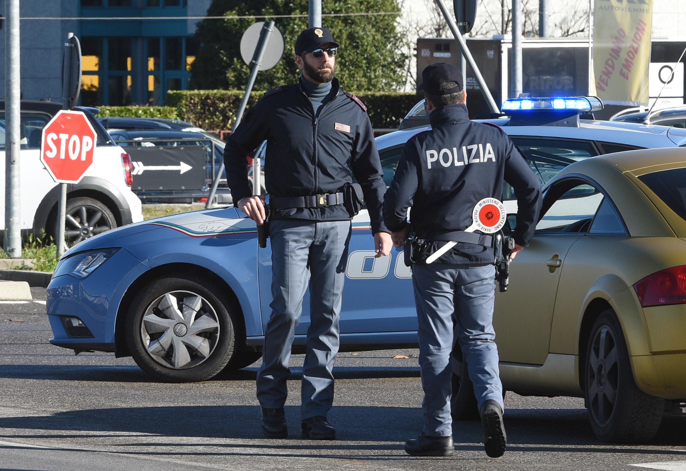
M45 289L32 292L37 302L0 304L0 471L686 470L686 417L665 420L650 444L602 444L582 400L512 393L504 457L486 457L478 422L453 424L453 457L409 457L403 442L421 428L416 350L339 355L335 442L299 437L295 356L291 437L264 439L255 365L205 383L155 383L131 359L49 345Z

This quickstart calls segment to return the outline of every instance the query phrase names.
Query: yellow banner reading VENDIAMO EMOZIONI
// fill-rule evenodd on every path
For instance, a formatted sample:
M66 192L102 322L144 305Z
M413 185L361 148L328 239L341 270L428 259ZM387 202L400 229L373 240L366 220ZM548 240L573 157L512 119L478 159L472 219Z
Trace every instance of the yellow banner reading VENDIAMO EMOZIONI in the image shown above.
M653 0L595 0L593 71L605 104L648 104Z

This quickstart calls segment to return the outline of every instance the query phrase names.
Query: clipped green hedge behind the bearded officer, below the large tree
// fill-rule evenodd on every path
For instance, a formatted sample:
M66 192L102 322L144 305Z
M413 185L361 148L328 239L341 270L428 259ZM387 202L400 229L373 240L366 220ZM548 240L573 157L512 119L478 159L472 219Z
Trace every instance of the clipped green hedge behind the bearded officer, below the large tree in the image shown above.
M241 90L169 91L165 103L176 108L178 118L206 130L228 130L243 99ZM252 92L248 107L264 92ZM357 94L356 94L357 95ZM357 95L368 110L374 128L397 128L420 97L415 93L363 92Z

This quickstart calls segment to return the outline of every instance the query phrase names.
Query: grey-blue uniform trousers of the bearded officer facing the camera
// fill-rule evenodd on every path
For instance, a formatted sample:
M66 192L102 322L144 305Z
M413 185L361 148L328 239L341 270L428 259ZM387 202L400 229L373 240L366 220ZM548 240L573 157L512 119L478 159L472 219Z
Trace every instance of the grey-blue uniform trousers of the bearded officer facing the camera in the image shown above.
M264 337L262 366L257 372L257 399L262 407L281 408L286 401L288 361L303 311L309 262L310 324L300 415L303 420L326 416L331 409L331 370L338 353L338 320L350 237L351 221L270 222L272 315Z

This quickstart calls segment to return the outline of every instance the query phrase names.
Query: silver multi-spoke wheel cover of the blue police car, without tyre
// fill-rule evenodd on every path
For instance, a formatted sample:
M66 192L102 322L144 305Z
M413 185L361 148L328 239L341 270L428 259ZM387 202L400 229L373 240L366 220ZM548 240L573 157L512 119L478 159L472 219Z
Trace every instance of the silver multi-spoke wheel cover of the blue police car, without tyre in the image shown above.
M191 291L171 291L156 298L143 314L141 339L157 363L185 370L204 363L220 335L212 305Z

